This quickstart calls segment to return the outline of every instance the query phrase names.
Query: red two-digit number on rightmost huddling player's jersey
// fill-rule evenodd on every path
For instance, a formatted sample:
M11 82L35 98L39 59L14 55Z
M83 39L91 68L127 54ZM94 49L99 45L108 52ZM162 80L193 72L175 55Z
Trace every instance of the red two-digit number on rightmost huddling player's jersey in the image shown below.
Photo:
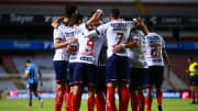
M156 45L151 45L151 56L153 58L160 58L161 57L161 44L156 44Z

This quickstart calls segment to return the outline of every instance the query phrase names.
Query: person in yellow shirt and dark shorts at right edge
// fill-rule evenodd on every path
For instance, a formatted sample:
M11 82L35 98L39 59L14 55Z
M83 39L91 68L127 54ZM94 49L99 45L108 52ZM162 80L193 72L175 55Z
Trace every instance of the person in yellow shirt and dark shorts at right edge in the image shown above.
M189 63L189 68L187 73L189 73L189 81L190 81L190 90L193 95L193 102L191 104L196 104L195 95L198 96L198 63L194 60L193 57L188 57L187 62ZM197 98L198 103L198 98Z

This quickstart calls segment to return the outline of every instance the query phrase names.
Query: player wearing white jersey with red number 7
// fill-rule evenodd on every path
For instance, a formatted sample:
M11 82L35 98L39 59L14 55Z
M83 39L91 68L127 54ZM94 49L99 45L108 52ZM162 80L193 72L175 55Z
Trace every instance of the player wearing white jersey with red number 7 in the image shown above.
M116 111L114 89L119 87L119 110L127 111L129 102L129 75L130 75L130 59L125 49L113 53L113 46L118 44L125 44L130 37L130 31L135 26L134 21L123 21L120 19L120 11L112 9L110 13L110 22L100 25L95 31L88 32L87 36L106 35L108 44L108 59L107 59L107 109L108 111Z

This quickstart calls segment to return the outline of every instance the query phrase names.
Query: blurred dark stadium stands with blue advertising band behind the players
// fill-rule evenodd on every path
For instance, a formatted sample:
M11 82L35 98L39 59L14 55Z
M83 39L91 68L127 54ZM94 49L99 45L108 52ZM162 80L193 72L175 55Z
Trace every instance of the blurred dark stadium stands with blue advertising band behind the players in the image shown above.
M173 70L165 69L163 90L189 90L187 57L198 60L198 0L0 0L0 92L8 91L10 97L26 92L26 59L42 70L40 91L55 92L51 23L64 15L66 5L77 5L85 16L102 9L105 22L111 8L119 8L122 18L152 20L173 65Z

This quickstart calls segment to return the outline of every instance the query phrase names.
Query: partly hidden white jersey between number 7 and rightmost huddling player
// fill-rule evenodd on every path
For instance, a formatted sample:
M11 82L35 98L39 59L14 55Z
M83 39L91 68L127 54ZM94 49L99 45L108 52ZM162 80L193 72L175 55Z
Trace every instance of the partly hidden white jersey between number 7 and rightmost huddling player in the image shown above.
M132 41L138 41L138 47L133 47L130 49L130 58L132 60L132 68L147 68L145 62L145 38L144 34L140 30L135 30L131 32Z

